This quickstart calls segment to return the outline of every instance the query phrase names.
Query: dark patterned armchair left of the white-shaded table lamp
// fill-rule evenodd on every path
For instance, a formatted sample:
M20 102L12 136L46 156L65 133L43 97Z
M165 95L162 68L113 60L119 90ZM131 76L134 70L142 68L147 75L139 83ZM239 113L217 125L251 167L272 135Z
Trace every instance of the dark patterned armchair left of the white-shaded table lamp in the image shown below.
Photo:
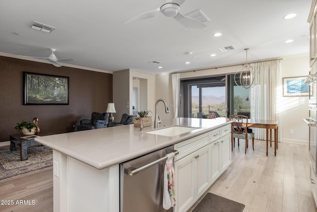
M107 127L109 122L109 113L93 112L91 119L80 120L80 125L77 125L76 131L94 130Z

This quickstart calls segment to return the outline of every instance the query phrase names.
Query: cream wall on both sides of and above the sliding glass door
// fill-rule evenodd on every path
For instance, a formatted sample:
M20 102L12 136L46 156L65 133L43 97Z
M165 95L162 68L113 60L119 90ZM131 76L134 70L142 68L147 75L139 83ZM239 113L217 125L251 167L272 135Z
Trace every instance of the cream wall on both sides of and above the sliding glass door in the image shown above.
M309 54L300 54L282 57L281 62L281 81L283 77L305 76L309 74ZM181 78L203 77L210 75L218 75L223 73L234 73L240 66L232 66L217 69L208 69L203 71L189 71L181 73ZM159 105L158 111L160 118L173 118L173 97L171 74L157 74L156 75L156 99L164 99L171 111L165 114L164 108ZM297 142L308 144L308 127L304 123L303 118L308 118L308 97L282 97L279 98L278 108L281 108L282 116L279 124L282 141ZM159 103L160 104L160 103ZM294 134L290 134L290 130Z

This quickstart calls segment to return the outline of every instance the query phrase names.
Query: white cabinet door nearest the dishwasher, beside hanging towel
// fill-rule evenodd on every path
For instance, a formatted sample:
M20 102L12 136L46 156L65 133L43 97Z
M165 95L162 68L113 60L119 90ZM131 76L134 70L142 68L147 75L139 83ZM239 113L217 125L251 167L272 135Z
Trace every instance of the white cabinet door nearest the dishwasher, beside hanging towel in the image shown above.
M195 157L190 154L174 163L176 189L176 207L174 212L186 212L187 207L194 202L194 175L197 172L194 170L194 162Z

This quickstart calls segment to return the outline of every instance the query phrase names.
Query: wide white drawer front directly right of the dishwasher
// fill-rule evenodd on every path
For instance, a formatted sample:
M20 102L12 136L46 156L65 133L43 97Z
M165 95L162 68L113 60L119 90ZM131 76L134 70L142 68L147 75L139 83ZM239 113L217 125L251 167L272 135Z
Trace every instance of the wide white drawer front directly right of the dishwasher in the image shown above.
M205 133L203 135L196 136L186 141L176 143L174 145L174 149L179 151L179 154L175 156L175 161L207 145L209 142L210 133Z

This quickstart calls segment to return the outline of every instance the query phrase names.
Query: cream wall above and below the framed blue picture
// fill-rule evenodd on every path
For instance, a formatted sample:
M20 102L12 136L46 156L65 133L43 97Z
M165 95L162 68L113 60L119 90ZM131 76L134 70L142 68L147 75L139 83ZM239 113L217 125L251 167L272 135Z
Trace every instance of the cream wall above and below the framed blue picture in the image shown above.
M307 76L309 74L309 54L283 57L281 62L282 78ZM282 80L281 78L281 80ZM308 97L281 97L279 104L282 112L282 141L306 143L309 140L309 128L303 121L308 118ZM294 134L290 134L290 130Z

